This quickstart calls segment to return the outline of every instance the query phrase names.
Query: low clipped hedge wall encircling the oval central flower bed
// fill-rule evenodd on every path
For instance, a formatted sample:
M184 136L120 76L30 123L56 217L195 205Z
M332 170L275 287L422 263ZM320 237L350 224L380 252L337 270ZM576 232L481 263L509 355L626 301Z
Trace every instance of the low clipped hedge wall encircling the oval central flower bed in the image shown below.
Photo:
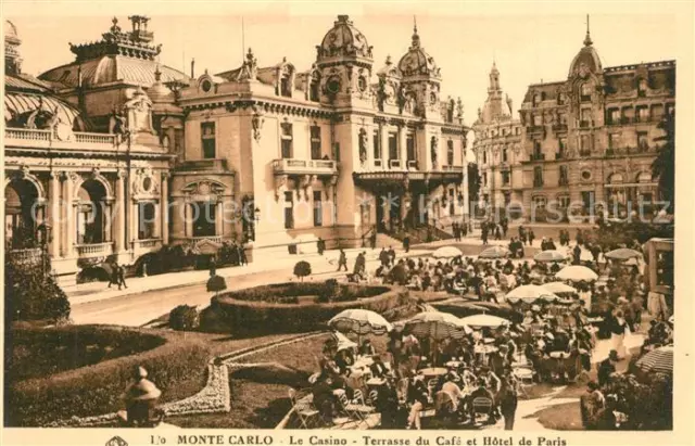
M285 284L287 286L287 284ZM296 284L306 290L306 283ZM313 284L321 286L324 284ZM277 286L277 285L276 285ZM397 306L407 304L408 295L399 288L391 286L369 286L350 285L356 291L362 290L364 294L380 293L370 297L356 298L352 301L317 303L296 305L295 303L263 302L260 300L239 298L248 297L249 294L262 294L267 292L268 286L245 290L241 296L236 293L226 293L211 301L210 310L205 314L211 320L215 320L216 326L227 327L233 333L292 333L319 330L326 328L326 322L340 311L348 308L365 308L382 314ZM295 288L287 289L288 293L295 291ZM286 294L287 296L287 294ZM277 301L277 300L274 300ZM205 320L201 321L205 329Z

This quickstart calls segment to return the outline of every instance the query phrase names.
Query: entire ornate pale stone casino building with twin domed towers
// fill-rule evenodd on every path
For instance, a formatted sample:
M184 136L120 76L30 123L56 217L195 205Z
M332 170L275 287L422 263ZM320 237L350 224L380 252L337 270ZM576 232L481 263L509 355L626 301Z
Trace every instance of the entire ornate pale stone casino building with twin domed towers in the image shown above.
M341 15L311 67L260 65L249 49L236 69L189 76L157 62L149 17L129 21L38 78L5 23L11 255L47 243L70 281L163 245L236 240L257 259L467 212L463 105L444 99L417 28L382 67Z

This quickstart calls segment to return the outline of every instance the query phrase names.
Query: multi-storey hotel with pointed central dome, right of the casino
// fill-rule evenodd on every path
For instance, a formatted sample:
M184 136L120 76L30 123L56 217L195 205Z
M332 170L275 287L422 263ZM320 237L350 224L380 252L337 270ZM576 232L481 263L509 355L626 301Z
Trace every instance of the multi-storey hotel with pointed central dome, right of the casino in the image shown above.
M664 135L657 126L674 106L675 61L604 68L587 28L567 80L528 88L521 150L509 166L511 197L527 212L549 203L568 211L571 203L574 213L605 204L610 214L657 201L650 168L655 139ZM492 162L502 168L498 158ZM505 194L500 183L491 186L491 196Z

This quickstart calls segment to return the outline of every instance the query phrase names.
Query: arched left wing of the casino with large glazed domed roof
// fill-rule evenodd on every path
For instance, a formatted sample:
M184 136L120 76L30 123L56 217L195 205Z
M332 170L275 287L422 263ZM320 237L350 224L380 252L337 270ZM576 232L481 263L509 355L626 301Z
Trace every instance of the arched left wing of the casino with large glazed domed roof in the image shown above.
M101 41L72 46L75 62L39 78L22 73L5 22L5 243L17 256L47 243L64 283L169 242L169 141L182 141L182 113L152 93L162 72L187 77L159 69L148 18L130 21L130 31L114 20Z

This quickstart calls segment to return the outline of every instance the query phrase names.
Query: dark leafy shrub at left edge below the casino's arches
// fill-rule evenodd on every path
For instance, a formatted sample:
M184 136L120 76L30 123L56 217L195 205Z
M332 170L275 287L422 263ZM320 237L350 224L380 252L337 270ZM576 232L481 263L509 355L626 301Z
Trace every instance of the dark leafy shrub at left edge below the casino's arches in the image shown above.
M50 265L46 268L50 271ZM67 296L55 283L55 279L45 273L45 268L34 265L18 265L7 262L4 267L5 320L52 321L70 318Z

